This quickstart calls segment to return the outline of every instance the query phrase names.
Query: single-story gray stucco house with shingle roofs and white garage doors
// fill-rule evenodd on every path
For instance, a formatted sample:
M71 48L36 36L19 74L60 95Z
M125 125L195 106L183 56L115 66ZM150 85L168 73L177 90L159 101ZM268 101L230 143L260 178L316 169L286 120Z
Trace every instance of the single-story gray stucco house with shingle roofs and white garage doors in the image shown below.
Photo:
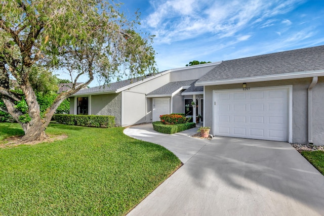
M214 136L324 145L324 46L171 69L70 103L71 114L114 115L121 126L200 114Z

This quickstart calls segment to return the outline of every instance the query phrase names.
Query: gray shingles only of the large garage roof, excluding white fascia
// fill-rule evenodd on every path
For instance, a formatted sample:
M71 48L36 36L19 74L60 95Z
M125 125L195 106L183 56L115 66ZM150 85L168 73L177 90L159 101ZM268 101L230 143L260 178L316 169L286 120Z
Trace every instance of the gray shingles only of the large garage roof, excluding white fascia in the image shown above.
M197 82L324 69L324 46L223 61Z

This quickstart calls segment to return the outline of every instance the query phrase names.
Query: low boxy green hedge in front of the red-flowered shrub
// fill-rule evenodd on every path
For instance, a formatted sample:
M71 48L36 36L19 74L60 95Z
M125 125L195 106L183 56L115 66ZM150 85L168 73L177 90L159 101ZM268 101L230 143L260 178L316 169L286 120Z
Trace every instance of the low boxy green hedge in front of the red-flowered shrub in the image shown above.
M160 121L152 122L154 131L163 134L175 134L186 129L190 129L196 126L196 123L188 122L184 124L163 124Z

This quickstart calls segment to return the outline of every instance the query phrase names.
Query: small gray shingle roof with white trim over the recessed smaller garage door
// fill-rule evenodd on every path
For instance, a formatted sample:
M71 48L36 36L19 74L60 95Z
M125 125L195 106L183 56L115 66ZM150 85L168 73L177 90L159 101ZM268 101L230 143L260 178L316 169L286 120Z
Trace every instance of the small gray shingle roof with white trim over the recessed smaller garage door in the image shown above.
M150 92L146 95L148 98L155 98L155 97L171 97L181 90L188 89L192 85L194 85L196 79L194 80L185 80L185 81L177 81L177 82L169 82L163 87L160 87L153 92Z

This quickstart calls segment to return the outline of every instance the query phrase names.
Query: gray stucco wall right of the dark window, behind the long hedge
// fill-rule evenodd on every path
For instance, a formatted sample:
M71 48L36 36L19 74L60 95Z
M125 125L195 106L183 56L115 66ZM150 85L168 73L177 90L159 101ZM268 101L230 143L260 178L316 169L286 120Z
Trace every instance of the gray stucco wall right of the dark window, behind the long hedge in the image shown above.
M121 93L92 95L91 96L92 115L113 115L115 123L121 124Z

